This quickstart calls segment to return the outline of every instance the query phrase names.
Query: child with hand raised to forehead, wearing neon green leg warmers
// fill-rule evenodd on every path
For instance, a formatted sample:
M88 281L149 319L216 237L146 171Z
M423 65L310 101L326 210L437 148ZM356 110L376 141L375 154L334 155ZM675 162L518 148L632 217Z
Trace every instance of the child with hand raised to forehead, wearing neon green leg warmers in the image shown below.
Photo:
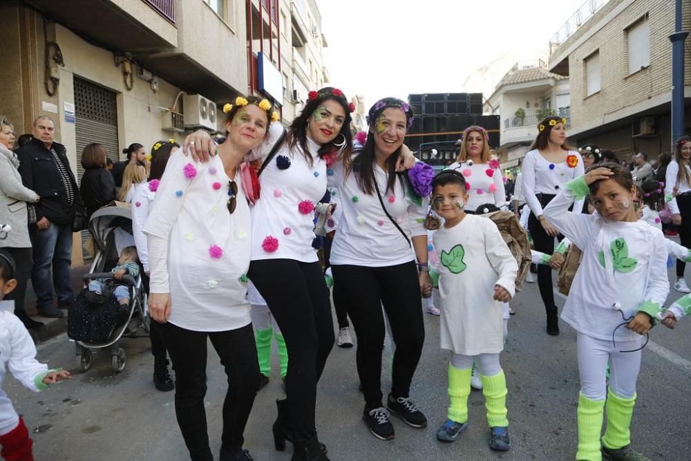
M586 194L596 213L569 211L571 203ZM636 207L631 173L608 163L567 182L544 210L549 222L583 250L562 312L562 319L578 332L576 460L648 459L632 449L629 426L641 368L641 335L662 312L670 284L665 238L638 220ZM603 409L607 429L600 442Z

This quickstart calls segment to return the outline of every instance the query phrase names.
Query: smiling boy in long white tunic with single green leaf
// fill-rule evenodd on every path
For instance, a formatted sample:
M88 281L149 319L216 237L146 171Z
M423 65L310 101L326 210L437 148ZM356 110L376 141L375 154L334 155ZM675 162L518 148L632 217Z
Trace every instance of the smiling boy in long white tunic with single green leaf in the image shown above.
M440 254L441 346L451 350L447 419L437 439L453 442L468 427L468 395L473 362L480 371L490 426L489 447L511 446L507 420L507 383L499 363L504 349L503 303L515 293L518 264L492 220L466 214L462 173L445 170L433 182L432 207L444 218L434 235Z

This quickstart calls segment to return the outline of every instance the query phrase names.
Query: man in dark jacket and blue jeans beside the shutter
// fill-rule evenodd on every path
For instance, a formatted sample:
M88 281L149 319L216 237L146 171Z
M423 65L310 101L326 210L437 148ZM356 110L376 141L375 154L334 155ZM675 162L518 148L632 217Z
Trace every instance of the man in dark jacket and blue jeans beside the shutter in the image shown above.
M41 197L35 205L37 222L31 229L34 250L31 281L39 314L63 317L63 312L53 305L53 281L58 305L69 307L73 299L72 223L81 198L66 149L53 142L53 120L44 115L37 117L32 134L34 138L17 151L22 182Z

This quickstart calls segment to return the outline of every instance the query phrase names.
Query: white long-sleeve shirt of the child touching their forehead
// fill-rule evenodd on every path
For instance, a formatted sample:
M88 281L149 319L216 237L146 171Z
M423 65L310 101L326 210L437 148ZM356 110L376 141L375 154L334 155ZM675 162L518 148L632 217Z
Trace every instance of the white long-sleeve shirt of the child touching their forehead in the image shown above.
M645 311L661 312L670 292L665 237L645 221L611 221L595 214L568 211L585 196L583 178L569 182L547 207L545 217L583 251L562 319L578 332L612 341L616 326ZM616 310L618 307L621 312ZM616 341L634 341L640 335L616 330Z

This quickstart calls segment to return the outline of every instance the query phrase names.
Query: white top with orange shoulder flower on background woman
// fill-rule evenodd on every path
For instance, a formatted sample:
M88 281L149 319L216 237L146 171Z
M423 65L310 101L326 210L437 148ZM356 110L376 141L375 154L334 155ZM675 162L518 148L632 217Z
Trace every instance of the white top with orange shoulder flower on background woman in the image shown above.
M558 194L562 187L574 178L583 176L585 168L583 158L576 151L568 151L567 156L574 155L578 158L575 167L569 167L566 160L560 163L551 163L545 160L538 149L533 149L525 155L523 160L523 196L526 203L539 217L542 214L542 205L536 194ZM583 199L576 200L574 210L580 213L583 210Z

